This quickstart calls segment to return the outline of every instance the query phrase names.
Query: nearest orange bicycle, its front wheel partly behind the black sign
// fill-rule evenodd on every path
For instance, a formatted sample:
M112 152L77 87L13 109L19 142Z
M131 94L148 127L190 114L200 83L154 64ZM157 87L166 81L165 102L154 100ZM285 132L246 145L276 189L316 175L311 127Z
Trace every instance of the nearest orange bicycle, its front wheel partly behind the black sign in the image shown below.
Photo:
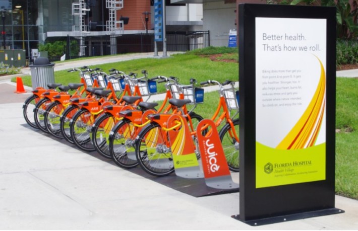
M220 123L225 119L226 124L220 130L220 139L222 140L223 145L225 145L225 156L227 157L227 162L230 165L230 170L238 171L238 119L232 120L238 115L238 103L234 91L234 82L226 81L223 84L218 83L217 81L206 81L202 83L205 84L218 84L220 87L220 102L212 120L215 120L215 126L219 126ZM230 89L224 89L224 85L231 85ZM196 99L195 95L200 95L202 93L194 94L191 99ZM170 102L171 101L171 102ZM183 108L186 104L191 103L192 100L170 100L174 106L178 108ZM228 106L229 105L229 106ZM219 116L219 112L222 109L222 113ZM230 109L234 110L234 115L230 116ZM190 114L182 111L182 115L186 118L187 121L191 121L193 118ZM166 176L174 172L174 163L171 152L170 134L169 129L179 129L181 124L168 128L168 119L170 114L151 114L148 115L148 119L151 121L147 126L145 126L141 132L138 134L136 139L135 151L136 158L139 165L143 170L153 176ZM191 136L196 141L196 131L194 127L190 127ZM202 127L202 134L210 135L211 131L207 130L208 126ZM183 137L182 139L185 140ZM176 145L185 145L185 141L182 143L177 143ZM196 148L196 153L198 156L198 148Z

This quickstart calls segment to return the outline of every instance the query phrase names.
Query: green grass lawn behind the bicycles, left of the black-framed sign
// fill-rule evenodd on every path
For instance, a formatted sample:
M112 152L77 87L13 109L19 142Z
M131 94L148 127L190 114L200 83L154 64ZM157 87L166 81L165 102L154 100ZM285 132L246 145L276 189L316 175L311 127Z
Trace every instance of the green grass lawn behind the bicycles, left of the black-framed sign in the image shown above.
M176 54L171 58L164 59L143 58L91 67L99 67L104 72L115 68L125 73L134 72L139 75L141 75L142 70L147 70L149 77L157 75L175 76L180 79L181 84L189 84L190 78L196 79L198 83L208 79L219 82L238 80L238 63L213 62L208 57L200 57L194 54ZM64 85L80 82L79 72L56 71L54 77L56 83ZM22 80L24 85L31 86L31 76L24 76ZM164 91L164 86L159 84L158 92Z

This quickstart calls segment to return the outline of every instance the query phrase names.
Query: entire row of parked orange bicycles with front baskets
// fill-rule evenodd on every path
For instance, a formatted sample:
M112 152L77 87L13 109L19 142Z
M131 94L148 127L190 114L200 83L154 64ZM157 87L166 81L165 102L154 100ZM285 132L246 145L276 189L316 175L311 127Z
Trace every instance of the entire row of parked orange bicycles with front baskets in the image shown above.
M143 76L116 69L105 73L87 66L69 71L79 71L80 83L48 84L48 89L36 88L25 101L23 114L31 127L66 139L81 150L96 150L121 168L140 165L153 176L166 176L174 172L172 149L183 149L188 140L184 133L170 132L180 130L180 118L184 118L196 147L197 132L210 136L220 127L218 142L221 141L228 167L239 171L238 91L234 82L200 83L217 85L220 99L210 118L215 129L205 125L197 131L204 118L194 111L204 103L204 89L195 87L198 83L194 79L183 85L174 77L148 78L145 70ZM166 92L158 105L149 99L157 94L160 83ZM195 148L195 154L200 158L199 148Z

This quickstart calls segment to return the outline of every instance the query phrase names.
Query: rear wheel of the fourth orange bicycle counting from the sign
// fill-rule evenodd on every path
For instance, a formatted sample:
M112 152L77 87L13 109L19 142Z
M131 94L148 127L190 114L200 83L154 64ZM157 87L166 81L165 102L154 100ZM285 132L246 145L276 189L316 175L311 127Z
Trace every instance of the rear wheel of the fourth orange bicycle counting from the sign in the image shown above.
M96 150L91 140L91 129L94 119L94 116L87 109L80 109L73 116L70 123L72 140L81 150Z

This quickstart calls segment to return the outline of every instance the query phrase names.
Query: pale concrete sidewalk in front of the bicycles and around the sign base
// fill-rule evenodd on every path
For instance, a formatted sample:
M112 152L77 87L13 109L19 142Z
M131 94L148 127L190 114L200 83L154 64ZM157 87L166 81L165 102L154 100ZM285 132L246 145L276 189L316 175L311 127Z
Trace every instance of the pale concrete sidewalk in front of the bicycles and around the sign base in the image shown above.
M255 227L235 220L240 193L193 197L32 129L25 89L0 81L0 229L358 229L358 201L341 196L341 214Z

